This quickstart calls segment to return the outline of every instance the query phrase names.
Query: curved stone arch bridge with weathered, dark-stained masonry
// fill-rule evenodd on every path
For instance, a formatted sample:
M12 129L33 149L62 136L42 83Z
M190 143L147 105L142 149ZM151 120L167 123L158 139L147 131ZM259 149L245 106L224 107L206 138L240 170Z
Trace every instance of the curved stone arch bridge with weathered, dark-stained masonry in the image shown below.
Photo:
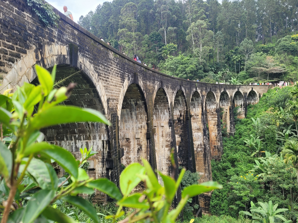
M78 84L65 104L97 109L112 123L44 130L47 141L75 156L84 146L98 151L89 175L118 183L121 164L141 158L170 174L173 147L177 165L199 172L201 182L212 180L210 161L223 153L221 120L233 134L234 108L244 118L247 105L257 103L270 86L207 84L159 73L55 12L60 15L58 27L46 28L26 1L0 1L1 92L34 83L35 64L49 70L56 64L57 79L72 74L69 80ZM205 211L209 195L200 202Z

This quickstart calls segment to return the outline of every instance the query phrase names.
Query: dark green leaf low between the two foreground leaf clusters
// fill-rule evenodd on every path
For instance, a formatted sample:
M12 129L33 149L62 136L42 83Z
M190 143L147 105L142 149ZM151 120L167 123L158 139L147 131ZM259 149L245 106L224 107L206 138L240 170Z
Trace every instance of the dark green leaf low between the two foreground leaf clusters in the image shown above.
M108 194L108 196L115 198L116 200L122 199L122 194L120 193L117 186L111 182L110 180L106 178L93 180L90 183L88 183L87 186L90 186L92 188L95 188L99 191L104 192L105 194Z

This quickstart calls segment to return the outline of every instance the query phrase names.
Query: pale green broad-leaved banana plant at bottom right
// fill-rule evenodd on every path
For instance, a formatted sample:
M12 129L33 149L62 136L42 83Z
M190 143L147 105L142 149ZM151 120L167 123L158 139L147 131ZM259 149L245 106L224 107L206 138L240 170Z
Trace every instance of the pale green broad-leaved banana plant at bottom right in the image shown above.
M272 205L272 201L270 200L268 203L265 202L258 202L260 207L256 207L254 205L254 202L250 202L251 208L250 212L244 211L244 214L251 216L252 223L277 223L277 222L283 222L283 223L289 223L290 220L285 219L285 217L282 214L279 214L281 212L288 211L287 208L279 208L278 204Z

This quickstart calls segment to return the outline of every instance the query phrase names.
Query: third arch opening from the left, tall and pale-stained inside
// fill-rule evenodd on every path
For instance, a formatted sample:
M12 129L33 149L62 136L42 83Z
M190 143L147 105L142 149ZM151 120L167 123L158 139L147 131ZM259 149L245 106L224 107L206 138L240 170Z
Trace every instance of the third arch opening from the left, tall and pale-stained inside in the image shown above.
M169 159L172 148L171 127L169 126L170 118L167 94L164 89L159 88L153 105L153 128L156 130L154 134L156 166L164 175L171 175L172 172L172 165ZM160 176L159 181L162 182Z

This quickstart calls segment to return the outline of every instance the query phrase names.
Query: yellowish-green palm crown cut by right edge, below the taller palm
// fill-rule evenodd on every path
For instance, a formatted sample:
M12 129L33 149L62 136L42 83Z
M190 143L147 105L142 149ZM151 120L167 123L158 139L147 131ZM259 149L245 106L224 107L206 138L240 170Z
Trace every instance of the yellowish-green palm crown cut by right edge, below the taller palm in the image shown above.
M283 161L285 164L288 164L289 161L292 161L293 167L297 172L297 183L298 183L298 142L293 139L289 139L285 143L285 146L282 149Z

